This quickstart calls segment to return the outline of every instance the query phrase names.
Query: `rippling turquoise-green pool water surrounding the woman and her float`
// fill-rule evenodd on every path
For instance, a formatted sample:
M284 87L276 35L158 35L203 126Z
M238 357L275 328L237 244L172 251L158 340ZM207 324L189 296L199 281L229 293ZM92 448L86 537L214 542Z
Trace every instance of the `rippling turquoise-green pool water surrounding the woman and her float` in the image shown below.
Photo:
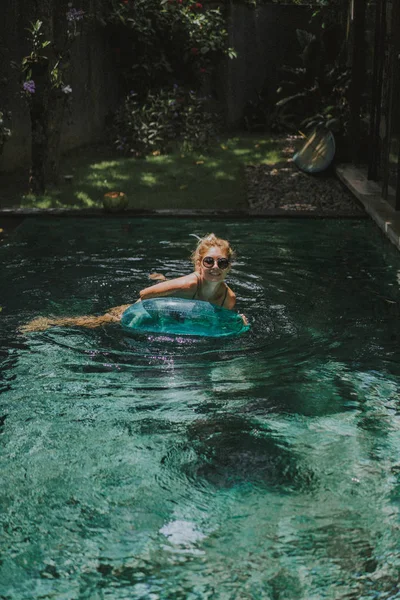
M17 327L209 231L235 339ZM0 248L1 600L400 598L400 255L368 220L27 220Z

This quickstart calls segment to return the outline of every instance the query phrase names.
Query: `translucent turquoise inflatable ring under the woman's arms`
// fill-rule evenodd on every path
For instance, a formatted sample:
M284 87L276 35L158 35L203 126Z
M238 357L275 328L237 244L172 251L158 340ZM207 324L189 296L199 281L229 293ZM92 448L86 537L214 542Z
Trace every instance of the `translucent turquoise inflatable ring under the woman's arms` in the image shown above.
M152 298L132 304L121 317L128 333L225 337L249 329L237 313L202 300Z

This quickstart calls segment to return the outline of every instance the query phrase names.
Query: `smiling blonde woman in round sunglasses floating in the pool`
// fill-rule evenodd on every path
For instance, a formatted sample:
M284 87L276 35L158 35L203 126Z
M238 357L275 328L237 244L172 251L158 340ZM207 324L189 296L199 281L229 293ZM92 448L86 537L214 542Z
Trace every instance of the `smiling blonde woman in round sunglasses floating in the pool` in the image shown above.
M200 238L195 251L192 253L194 272L190 275L163 281L141 290L141 300L174 296L175 298L191 298L204 300L217 306L232 310L236 304L234 292L225 283L225 277L231 269L234 252L226 240L218 238L213 233ZM106 323L119 321L122 313L130 304L116 306L99 317L61 317L48 319L39 317L20 328L23 333L43 331L53 325L79 325L82 327L98 327ZM242 315L243 321L247 319Z

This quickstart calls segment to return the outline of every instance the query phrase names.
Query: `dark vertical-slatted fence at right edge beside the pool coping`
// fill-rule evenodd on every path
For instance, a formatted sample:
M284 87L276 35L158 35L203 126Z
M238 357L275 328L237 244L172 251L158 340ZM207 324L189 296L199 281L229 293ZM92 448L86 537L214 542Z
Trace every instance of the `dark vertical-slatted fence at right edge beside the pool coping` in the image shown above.
M368 163L369 179L382 184L383 198L400 210L400 4L361 4L351 26L361 38L361 52L353 44L353 72L363 76L359 96L366 99L364 120L369 126L369 151L362 162ZM353 158L356 162L358 157Z

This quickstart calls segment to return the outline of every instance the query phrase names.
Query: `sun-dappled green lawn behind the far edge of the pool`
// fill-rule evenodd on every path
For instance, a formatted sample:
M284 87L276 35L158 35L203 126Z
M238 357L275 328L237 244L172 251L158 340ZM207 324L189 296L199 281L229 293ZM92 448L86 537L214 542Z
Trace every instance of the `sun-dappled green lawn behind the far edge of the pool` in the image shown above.
M122 191L134 209L241 209L247 207L244 167L282 160L276 137L225 138L207 155L176 151L145 159L89 147L65 156L59 187L43 196L24 193L26 181L3 186L2 207L93 208L108 191ZM73 175L71 181L65 175Z

